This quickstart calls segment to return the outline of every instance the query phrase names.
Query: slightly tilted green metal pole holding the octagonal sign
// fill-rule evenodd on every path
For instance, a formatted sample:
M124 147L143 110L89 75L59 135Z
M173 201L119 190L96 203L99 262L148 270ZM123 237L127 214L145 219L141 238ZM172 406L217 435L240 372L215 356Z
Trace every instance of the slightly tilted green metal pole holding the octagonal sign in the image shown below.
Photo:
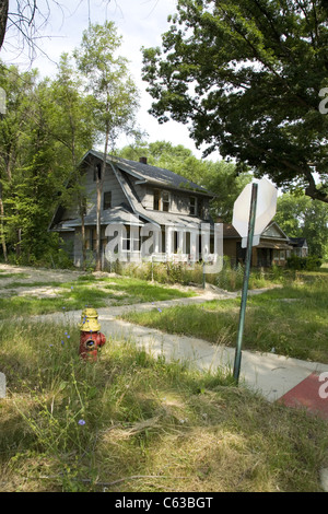
M233 374L237 383L239 381L239 373L241 373L243 332L244 332L244 325L245 325L245 312L246 312L248 280L249 280L249 271L250 271L253 237L254 237L254 227L255 227L255 219L256 219L257 188L258 188L257 184L253 184L249 223L248 223L248 235L247 235L247 249L246 249L245 270L244 270L244 282L243 282L242 303L241 303L241 313L239 313L239 326L238 326L238 334L237 334L237 346L236 346L236 351L235 351L234 374Z

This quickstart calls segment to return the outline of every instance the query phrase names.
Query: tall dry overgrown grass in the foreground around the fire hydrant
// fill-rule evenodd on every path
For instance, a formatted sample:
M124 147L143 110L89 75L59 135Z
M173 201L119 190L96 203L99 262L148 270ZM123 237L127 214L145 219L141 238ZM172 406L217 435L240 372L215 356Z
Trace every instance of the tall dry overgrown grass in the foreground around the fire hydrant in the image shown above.
M2 491L320 491L327 423L79 330L0 324Z

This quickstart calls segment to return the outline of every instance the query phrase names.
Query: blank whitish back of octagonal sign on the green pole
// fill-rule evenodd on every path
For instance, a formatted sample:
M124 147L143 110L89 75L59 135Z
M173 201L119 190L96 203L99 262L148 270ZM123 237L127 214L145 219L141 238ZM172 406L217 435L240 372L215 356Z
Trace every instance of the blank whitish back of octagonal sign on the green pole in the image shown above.
M277 196L277 188L267 178L261 178L258 183L253 246L259 244L261 233L276 214ZM232 223L242 236L243 248L247 246L250 198L251 184L247 184L234 203Z

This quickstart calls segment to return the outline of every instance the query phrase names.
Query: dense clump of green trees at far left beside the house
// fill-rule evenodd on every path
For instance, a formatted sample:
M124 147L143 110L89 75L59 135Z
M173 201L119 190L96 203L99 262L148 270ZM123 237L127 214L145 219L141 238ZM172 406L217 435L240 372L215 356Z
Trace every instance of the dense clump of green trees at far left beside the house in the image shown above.
M15 252L25 262L45 262L57 243L48 226L59 198L68 205L68 190L78 198L83 194L79 176L77 186L66 185L77 178L77 164L92 145L92 113L66 56L55 81L40 81L36 70L1 70L7 93L7 114L0 119L2 254L4 260Z

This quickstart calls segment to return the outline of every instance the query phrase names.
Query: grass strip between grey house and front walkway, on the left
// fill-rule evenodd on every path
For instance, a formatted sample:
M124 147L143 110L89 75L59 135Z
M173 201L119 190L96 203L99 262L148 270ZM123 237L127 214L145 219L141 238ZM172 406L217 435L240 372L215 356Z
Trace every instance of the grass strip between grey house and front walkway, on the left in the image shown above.
M0 318L5 318L10 311L12 316L48 314L62 311L84 308L85 305L105 307L140 302L155 302L192 296L195 293L178 289L149 283L132 278L95 278L82 276L74 282L13 282L7 289L24 287L34 289L49 287L56 289L52 297L9 296L0 299Z

